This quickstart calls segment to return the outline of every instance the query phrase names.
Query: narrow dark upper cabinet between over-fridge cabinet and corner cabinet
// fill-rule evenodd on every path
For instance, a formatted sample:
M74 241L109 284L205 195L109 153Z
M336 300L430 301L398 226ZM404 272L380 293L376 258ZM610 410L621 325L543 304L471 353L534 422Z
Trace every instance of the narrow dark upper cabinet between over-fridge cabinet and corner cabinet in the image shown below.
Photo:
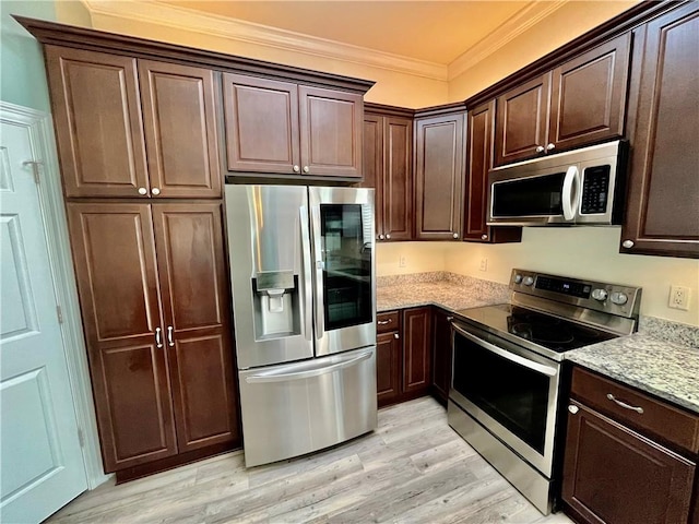
M378 241L413 239L413 118L400 108L366 112L363 187L372 187ZM393 109L393 110L391 110ZM410 111L410 110L406 110Z

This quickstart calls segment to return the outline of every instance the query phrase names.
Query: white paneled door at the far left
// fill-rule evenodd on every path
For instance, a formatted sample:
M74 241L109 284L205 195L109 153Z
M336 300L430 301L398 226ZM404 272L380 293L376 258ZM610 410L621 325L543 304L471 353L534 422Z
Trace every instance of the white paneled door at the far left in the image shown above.
M40 522L87 488L34 144L0 130L0 521ZM39 182L40 183L40 182Z

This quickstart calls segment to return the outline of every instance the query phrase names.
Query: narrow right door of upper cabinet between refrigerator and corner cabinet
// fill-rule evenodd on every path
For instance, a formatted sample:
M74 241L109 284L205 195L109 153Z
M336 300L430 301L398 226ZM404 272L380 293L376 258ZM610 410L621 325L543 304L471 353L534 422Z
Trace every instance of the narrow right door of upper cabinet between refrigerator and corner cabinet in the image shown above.
M383 126L383 234L413 239L413 120L386 117Z

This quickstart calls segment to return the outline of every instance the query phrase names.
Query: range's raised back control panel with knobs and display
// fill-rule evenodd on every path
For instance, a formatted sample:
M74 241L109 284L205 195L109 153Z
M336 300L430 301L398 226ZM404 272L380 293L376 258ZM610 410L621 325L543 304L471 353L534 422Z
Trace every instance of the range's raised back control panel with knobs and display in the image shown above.
M638 314L641 300L640 287L582 281L528 270L512 270L510 289L629 318Z

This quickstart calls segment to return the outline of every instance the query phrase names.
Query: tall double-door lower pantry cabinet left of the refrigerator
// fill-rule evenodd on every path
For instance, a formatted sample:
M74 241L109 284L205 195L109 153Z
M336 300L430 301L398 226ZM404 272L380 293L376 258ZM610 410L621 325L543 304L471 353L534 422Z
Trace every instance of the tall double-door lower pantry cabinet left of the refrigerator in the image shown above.
M105 472L239 444L221 203L68 216Z

